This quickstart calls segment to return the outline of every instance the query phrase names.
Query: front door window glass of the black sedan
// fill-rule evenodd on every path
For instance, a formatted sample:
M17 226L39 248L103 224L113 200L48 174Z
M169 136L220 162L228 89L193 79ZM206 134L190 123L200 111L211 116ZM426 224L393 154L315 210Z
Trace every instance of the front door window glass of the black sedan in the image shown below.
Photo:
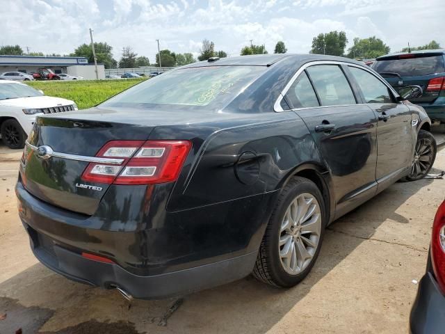
M392 103L394 102L389 88L368 71L358 67L348 66L355 81L364 95L366 103Z

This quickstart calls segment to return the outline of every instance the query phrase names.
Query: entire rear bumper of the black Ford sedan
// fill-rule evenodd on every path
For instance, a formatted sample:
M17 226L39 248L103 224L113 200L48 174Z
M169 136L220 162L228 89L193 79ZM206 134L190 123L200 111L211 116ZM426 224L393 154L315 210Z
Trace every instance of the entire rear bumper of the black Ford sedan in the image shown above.
M248 276L266 227L261 220L267 221L265 212L251 212L269 207L273 196L163 212L156 220L134 223L117 221L116 216L108 222L54 207L32 196L20 180L15 190L20 218L40 262L72 280L120 287L140 299L187 294ZM169 191L162 193L168 196ZM119 193L115 198L124 202ZM163 201L159 207L165 207ZM241 210L246 209L250 214L243 216ZM252 221L246 218L250 216ZM90 260L82 253L113 263Z

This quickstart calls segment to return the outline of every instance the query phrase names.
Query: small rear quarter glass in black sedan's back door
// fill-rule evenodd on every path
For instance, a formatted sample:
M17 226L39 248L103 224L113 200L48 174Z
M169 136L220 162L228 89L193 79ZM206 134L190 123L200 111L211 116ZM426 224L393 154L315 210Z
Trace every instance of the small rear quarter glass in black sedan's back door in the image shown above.
M317 95L306 72L302 72L286 93L293 108L309 108L319 106Z

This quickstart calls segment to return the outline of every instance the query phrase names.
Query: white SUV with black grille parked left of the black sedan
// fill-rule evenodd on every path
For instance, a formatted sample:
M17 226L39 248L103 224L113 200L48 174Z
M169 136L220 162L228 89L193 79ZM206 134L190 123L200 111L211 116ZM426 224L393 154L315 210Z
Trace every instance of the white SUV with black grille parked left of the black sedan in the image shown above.
M0 134L8 148L23 148L35 116L76 109L70 100L44 96L41 90L17 81L0 80Z

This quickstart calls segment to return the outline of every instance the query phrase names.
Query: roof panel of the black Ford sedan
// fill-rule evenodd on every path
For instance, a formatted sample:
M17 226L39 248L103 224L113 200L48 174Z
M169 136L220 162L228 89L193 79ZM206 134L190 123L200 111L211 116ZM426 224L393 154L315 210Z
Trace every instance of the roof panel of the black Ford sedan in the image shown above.
M363 62L355 61L354 59L338 56L325 56L323 54L255 54L250 56L219 58L216 61L200 61L182 66L181 68L232 65L270 66L282 61L284 58L293 58L296 63L307 63L309 61L343 61L364 65Z

